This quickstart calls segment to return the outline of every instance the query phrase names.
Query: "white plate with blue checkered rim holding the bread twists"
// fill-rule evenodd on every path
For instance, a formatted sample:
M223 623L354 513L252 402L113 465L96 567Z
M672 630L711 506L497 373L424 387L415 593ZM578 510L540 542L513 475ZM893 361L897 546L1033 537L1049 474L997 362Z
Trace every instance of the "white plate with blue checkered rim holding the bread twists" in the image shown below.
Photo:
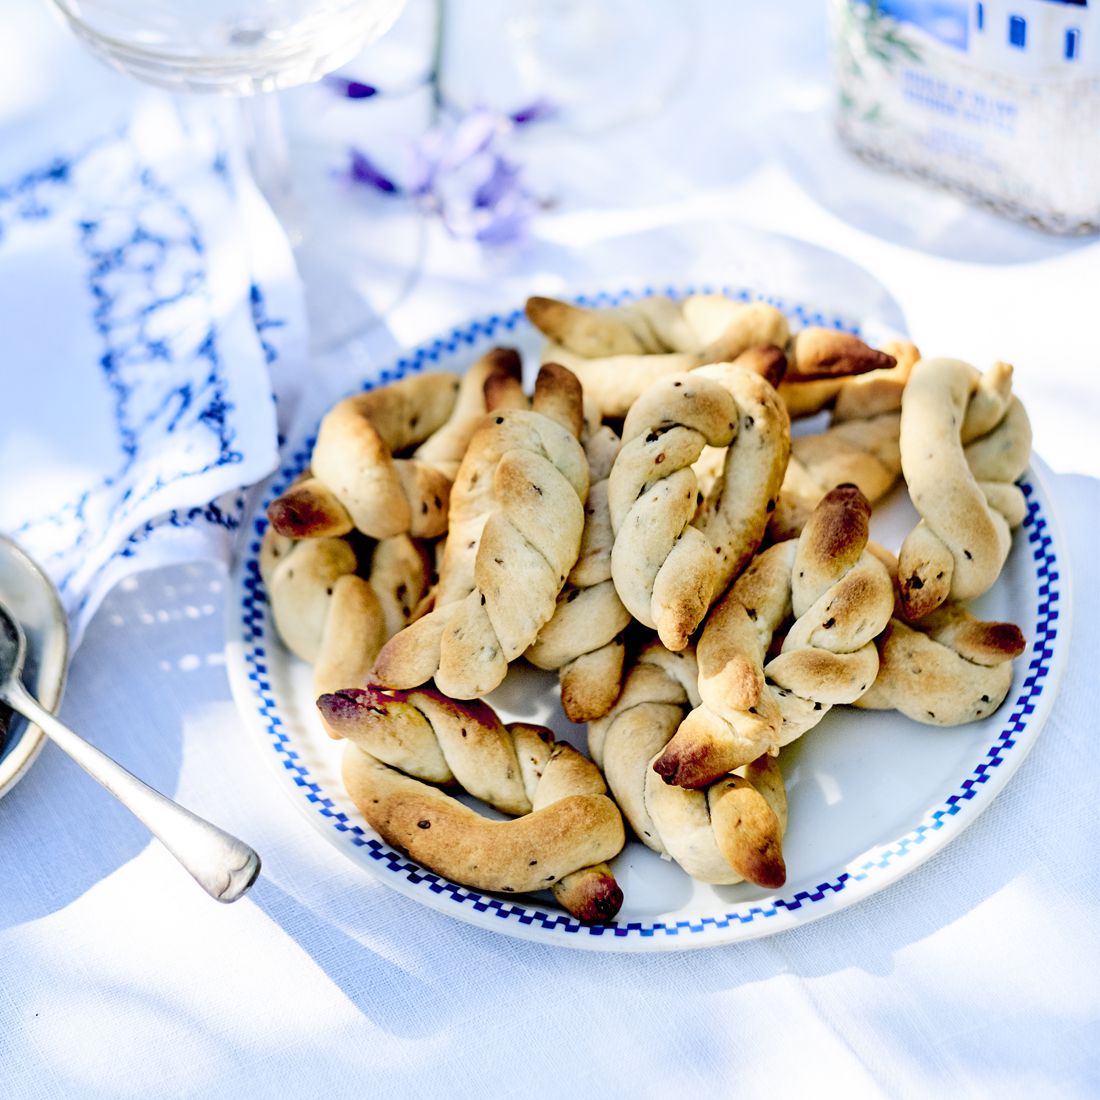
M729 287L661 286L575 300L609 306L646 294L711 289L746 300L756 297ZM860 330L851 319L826 317L804 304L766 300L799 324ZM867 328L865 334L877 340ZM464 370L498 343L519 348L534 370L541 337L522 309L515 309L472 320L420 345L382 371L377 381L422 370ZM227 638L234 696L278 784L321 834L356 867L458 920L568 947L645 952L751 939L836 913L908 875L957 837L1020 767L1053 705L1068 648L1068 556L1050 497L1033 466L1022 482L1027 518L1015 534L1000 581L974 608L985 618L1018 623L1028 640L1005 702L989 718L952 729L921 726L893 712L837 707L784 749L780 759L791 813L782 890L694 882L632 839L615 861L625 901L609 924L581 924L558 909L550 894L505 898L458 886L394 850L366 825L341 787L342 747L317 717L310 670L284 649L272 626L258 569L264 510L306 466L312 442L310 437L293 447L286 465L260 494L235 570ZM897 548L915 518L900 488L878 506L872 534ZM561 713L553 673L514 666L488 701L506 721L544 723L559 737L584 745L583 728Z

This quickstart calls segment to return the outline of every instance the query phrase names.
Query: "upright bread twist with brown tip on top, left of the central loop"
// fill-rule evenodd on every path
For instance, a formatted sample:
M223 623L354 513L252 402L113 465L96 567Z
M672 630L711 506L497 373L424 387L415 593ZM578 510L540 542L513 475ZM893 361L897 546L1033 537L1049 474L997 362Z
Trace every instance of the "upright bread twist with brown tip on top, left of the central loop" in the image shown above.
M553 615L576 563L588 492L575 438L580 386L563 367L543 366L535 404L542 411L490 417L471 441L440 579L446 598L383 647L374 669L380 683L415 688L435 678L454 698L484 695ZM470 556L473 568L462 575Z

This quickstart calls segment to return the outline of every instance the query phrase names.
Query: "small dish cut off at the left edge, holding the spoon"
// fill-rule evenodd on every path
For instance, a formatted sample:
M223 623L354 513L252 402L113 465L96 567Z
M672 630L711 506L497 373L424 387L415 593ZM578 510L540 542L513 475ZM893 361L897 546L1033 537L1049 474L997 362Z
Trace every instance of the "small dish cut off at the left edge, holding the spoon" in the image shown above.
M51 582L10 539L0 535L0 601L22 623L26 634L23 683L51 713L61 705L68 662L68 624ZM7 708L0 704L0 710ZM20 714L6 713L0 733L0 799L34 763L46 735Z

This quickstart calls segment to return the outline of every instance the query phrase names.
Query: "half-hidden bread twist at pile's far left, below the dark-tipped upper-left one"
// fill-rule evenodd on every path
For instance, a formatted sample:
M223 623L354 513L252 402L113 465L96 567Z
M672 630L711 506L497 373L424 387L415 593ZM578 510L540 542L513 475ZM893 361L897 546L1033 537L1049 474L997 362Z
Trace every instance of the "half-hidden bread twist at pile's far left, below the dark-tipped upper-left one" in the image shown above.
M387 638L419 613L431 566L407 535L377 542L367 578L346 539L295 541L268 526L260 574L275 630L296 657L314 666L314 695L366 681Z

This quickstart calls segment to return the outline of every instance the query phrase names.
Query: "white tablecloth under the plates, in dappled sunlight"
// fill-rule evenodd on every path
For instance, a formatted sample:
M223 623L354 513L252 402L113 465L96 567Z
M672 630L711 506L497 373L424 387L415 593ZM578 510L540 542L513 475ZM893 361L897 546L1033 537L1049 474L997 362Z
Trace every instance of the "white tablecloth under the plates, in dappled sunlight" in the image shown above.
M340 370L532 288L629 275L617 242L652 227L737 219L847 255L926 352L1015 363L1055 471L1074 644L1020 772L923 868L799 931L663 956L521 943L389 892L276 789L230 697L219 568L130 579L88 627L63 717L245 837L264 875L215 905L47 746L0 801L0 1094L1100 1091L1100 246L851 164L828 125L821 6L728 7L685 6L692 64L663 112L532 135L558 206L530 250L492 260L429 233L387 331ZM316 370L323 388L338 369Z

